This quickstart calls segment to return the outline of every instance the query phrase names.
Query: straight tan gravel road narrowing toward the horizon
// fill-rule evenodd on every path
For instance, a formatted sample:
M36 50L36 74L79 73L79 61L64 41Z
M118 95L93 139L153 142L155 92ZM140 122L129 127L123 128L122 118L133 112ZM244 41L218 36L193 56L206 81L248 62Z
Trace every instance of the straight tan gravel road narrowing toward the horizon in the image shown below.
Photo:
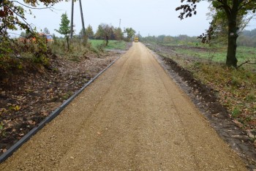
M0 170L246 170L134 43Z

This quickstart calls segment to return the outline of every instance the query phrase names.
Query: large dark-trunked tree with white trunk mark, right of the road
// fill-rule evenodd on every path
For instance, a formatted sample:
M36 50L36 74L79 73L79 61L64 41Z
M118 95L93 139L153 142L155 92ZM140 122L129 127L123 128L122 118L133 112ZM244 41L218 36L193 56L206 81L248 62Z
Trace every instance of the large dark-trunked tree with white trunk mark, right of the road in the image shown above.
M186 2L186 4L181 4L180 7L177 7L176 10L181 10L180 15L178 18L184 19L184 17L192 17L192 15L196 15L197 13L197 3L203 0L182 0L181 2ZM236 41L238 38L238 31L239 26L241 27L241 20L244 18L244 16L248 15L249 12L255 13L256 11L256 1L255 0L211 0L209 1L216 9L219 14L215 15L216 17L211 22L210 27L206 31L206 34L200 35L200 38L202 39L202 42L209 42L212 39L212 36L215 33L218 32L216 30L215 21L219 19L223 19L224 23L223 26L227 26L227 29L222 29L222 31L227 30L227 58L226 58L226 65L227 66L233 66L238 67L237 65L237 58L236 58ZM216 19L216 20L215 20ZM220 23L220 25L222 25ZM226 23L226 24L225 24ZM215 30L214 30L215 29Z

